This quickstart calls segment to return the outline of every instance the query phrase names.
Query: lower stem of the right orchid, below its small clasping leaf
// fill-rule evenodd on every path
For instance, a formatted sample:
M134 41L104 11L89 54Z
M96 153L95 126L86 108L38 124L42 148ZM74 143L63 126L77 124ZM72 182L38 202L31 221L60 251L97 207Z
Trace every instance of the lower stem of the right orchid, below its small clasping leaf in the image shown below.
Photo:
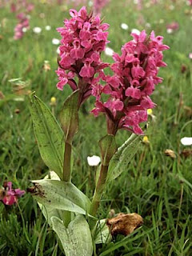
M106 184L106 176L108 172L108 166L101 166L100 175L98 178L97 186L94 190L94 198L90 205L90 215L95 216L97 214L99 202L102 198L102 193Z

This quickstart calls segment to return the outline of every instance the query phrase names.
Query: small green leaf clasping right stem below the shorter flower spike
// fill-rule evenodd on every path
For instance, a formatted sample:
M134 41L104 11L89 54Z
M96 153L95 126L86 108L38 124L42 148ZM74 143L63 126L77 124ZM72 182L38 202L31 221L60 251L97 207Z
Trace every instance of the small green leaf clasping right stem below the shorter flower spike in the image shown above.
M108 166L110 159L117 150L114 135L106 135L98 142L102 153L102 165Z

